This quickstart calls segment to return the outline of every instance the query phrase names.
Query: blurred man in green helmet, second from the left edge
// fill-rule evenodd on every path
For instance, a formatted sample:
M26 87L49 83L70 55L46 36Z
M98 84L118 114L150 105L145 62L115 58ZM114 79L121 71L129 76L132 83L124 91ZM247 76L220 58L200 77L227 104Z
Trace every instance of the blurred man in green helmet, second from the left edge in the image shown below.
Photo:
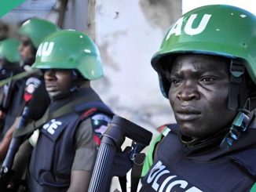
M47 35L59 29L57 25L48 20L39 18L27 20L20 26L18 30L20 34L20 45L17 48L20 53L20 72L24 71L24 66L31 66L31 64L35 62L35 53L40 42L42 42ZM15 52L16 50L13 50L13 53ZM13 125L16 118L20 116L26 104L26 100L29 100L32 92L41 85L41 80L42 74L35 74L28 78L20 78L15 82L10 81L9 84L12 84L13 88L12 90L9 89L9 105L5 107L7 110L5 124L3 125L0 139L5 136L5 133ZM44 104L46 103L49 103L47 94L45 102L42 102L42 105L39 107L42 107L42 110L44 110ZM41 109L38 108L38 111L39 110ZM35 112L35 114L36 113L37 112ZM38 116L40 115L38 114Z

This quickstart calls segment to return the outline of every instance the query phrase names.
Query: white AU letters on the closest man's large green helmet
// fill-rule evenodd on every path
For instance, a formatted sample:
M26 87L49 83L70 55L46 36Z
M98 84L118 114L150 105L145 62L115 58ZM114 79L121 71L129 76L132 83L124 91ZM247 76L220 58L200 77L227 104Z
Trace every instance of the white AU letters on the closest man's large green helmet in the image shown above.
M200 21L199 25L196 28L192 27L193 22L196 20L197 14L192 14L189 16L188 21L185 24L184 32L185 34L194 35L194 34L200 34L202 33L205 28L207 27L207 24L210 20L209 14L204 14L202 20ZM184 21L184 17L181 17L177 22L170 28L170 31L166 35L166 40L170 38L171 34L180 35L181 34L181 27Z

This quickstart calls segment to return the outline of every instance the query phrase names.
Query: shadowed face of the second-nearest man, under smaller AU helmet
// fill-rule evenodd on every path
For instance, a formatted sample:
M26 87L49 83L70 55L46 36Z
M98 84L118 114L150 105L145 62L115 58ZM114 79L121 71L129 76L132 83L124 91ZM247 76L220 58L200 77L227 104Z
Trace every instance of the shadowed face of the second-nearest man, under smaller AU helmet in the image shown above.
M46 70L44 78L46 91L50 98L64 95L71 88L72 76L70 70Z

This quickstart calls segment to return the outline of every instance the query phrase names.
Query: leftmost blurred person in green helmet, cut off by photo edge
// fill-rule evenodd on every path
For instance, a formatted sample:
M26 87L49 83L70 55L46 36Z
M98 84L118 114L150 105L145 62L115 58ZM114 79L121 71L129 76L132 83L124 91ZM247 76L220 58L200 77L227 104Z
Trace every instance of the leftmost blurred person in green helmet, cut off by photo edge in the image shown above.
M7 38L0 42L0 80L5 78L12 77L15 74L22 72L20 67L20 54L18 52L20 42L14 38ZM1 110L0 116L2 118L2 128L0 134L0 141L5 136L5 133L8 131L9 127L13 124L14 116L16 116L16 107L13 106L13 100L16 100L17 103L21 103L23 98L20 92L21 81L9 83L3 85L1 89L2 100L1 100ZM20 96L19 98L14 99L14 96ZM15 103L15 102L14 102ZM2 147L0 147L0 156L3 153ZM5 154L5 153L3 153Z

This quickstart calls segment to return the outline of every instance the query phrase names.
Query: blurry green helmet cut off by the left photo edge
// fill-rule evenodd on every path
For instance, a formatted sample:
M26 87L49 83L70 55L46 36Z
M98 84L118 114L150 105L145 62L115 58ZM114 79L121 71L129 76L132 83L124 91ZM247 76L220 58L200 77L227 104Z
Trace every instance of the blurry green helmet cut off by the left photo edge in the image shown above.
M7 38L0 42L0 58L9 61L10 63L16 63L20 60L20 54L18 47L20 42L14 38Z

